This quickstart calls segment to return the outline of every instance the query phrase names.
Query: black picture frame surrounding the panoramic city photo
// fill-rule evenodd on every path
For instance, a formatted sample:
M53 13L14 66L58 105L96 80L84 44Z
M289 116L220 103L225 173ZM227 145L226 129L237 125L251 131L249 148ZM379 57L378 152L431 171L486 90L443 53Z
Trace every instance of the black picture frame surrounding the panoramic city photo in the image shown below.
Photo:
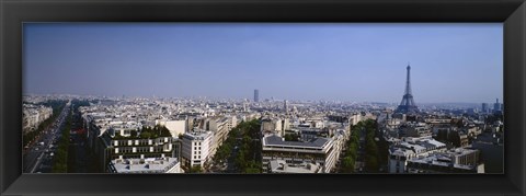
M1 0L2 195L524 195L524 0ZM23 22L502 22L504 174L22 174Z

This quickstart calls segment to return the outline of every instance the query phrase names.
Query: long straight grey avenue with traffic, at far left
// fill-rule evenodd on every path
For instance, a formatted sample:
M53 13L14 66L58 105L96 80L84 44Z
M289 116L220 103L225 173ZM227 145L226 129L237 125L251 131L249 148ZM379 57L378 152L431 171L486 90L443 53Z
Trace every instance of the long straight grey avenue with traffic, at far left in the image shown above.
M27 149L27 152L23 155L23 173L50 172L56 142L60 137L60 129L64 127L68 116L69 105L70 103L68 102L50 128L44 130L38 141Z

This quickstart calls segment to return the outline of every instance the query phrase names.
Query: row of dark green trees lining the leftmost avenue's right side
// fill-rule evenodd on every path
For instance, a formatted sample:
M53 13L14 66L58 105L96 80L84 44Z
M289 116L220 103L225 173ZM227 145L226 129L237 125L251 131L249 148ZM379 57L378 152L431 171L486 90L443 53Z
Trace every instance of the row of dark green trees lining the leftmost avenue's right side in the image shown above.
M60 140L58 140L58 147L53 158L53 173L67 173L68 172L68 150L69 150L69 131L71 130L71 112L69 112L66 118L66 125L61 129Z

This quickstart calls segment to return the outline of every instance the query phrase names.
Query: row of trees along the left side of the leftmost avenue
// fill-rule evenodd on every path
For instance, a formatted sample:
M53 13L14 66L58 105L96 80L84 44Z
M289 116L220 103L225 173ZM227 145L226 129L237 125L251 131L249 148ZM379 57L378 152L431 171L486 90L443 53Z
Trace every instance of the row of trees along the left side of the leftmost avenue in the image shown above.
M47 118L46 120L42 122L38 127L30 132L26 132L22 137L22 143L25 146L30 145L31 141L33 141L37 136L42 134L42 131L46 130L55 119L60 115L60 112L62 111L64 106L66 105L66 101L47 101L42 103L44 106L48 106L53 108L53 115Z

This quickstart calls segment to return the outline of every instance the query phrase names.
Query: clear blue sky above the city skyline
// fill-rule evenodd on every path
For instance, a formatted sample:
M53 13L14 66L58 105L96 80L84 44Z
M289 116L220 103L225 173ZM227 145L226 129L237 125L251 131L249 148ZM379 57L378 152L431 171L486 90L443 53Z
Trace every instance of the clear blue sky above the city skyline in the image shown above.
M503 95L501 23L30 23L24 93L400 102Z

